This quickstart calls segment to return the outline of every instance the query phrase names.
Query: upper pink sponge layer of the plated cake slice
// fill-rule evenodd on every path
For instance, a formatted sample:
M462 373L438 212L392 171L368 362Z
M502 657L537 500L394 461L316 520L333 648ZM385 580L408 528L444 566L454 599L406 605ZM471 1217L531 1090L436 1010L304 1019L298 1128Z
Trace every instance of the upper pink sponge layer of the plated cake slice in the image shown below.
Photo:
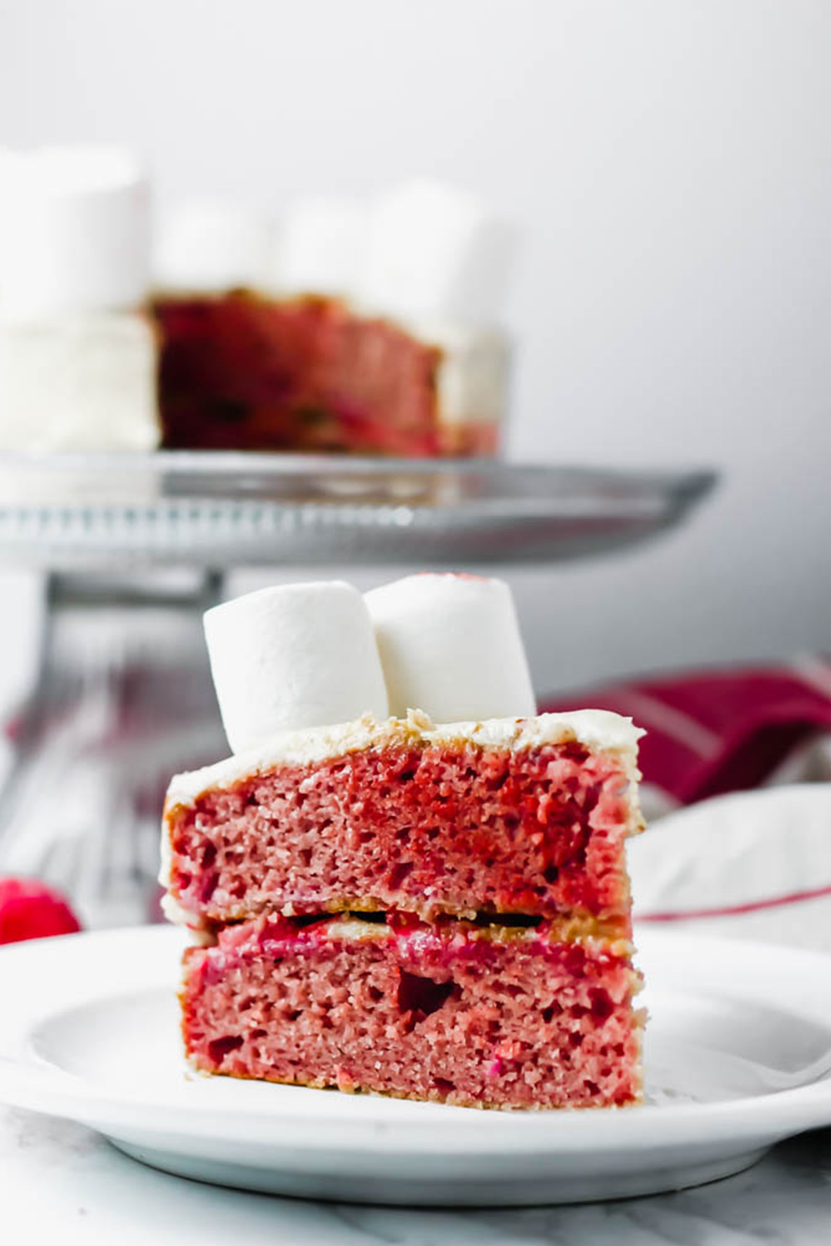
M625 933L629 782L625 759L577 740L412 739L274 764L168 800L168 892L194 927L275 911L578 911L617 915Z

